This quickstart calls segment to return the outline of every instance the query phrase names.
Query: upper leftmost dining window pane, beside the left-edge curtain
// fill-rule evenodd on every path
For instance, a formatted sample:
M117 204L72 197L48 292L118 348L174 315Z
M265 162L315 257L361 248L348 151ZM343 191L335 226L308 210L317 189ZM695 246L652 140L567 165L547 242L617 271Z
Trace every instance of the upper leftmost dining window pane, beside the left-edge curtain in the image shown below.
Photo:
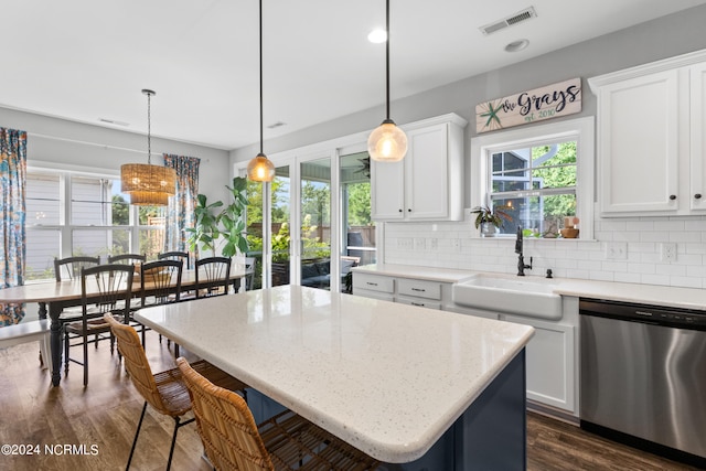
M26 225L61 223L61 185L58 175L28 173Z

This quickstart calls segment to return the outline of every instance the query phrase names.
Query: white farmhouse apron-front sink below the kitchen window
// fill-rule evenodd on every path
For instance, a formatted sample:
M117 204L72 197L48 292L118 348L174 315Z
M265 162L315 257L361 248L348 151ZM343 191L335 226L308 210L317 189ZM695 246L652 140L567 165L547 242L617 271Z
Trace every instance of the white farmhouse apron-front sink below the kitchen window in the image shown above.
M545 278L477 275L453 285L453 302L470 308L537 319L561 319L561 296Z

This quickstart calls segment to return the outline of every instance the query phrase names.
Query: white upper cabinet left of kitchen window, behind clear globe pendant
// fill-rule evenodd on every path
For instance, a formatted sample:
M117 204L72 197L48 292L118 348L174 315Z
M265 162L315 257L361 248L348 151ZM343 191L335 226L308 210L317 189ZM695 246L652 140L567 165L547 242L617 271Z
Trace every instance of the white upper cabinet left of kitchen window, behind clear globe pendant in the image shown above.
M466 125L450 114L403 126L407 156L400 162L372 164L374 220L463 220Z

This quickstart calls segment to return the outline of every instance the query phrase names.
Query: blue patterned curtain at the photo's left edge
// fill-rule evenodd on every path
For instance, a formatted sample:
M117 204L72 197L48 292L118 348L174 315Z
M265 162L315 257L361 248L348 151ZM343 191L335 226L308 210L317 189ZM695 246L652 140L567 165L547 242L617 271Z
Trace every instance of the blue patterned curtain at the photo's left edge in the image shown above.
M26 189L26 132L0 128L0 288L24 285ZM24 318L24 304L0 304L0 327L17 324Z

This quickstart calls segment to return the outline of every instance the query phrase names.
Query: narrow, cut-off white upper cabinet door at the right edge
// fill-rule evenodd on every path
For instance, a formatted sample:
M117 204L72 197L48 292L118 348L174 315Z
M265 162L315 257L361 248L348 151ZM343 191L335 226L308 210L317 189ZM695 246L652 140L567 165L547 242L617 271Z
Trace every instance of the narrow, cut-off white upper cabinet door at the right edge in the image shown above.
M689 208L706 210L706 63L689 68Z

